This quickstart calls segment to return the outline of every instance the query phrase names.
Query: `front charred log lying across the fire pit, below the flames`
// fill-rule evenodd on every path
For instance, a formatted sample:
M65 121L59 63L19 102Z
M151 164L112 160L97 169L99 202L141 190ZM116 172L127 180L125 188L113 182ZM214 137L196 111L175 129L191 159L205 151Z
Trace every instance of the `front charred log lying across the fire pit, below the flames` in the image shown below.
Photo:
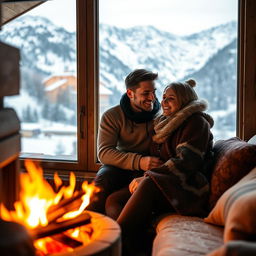
M78 215L76 218L68 219L62 222L52 222L46 227L37 227L31 230L33 239L39 239L47 236L52 236L64 232L71 228L86 225L91 222L91 216L87 212Z

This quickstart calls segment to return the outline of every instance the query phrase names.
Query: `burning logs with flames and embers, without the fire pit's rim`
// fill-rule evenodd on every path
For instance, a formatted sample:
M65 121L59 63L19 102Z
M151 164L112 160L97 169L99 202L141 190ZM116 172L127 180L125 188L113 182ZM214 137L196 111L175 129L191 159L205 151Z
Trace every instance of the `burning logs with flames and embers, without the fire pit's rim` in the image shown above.
M40 166L27 160L25 167L27 172L20 174L20 200L14 203L13 211L1 204L1 218L23 223L42 255L70 250L90 241L93 228L86 225L91 217L85 209L99 188L84 181L82 190L74 191L75 176L71 173L70 185L56 186L59 191L55 192L44 179Z

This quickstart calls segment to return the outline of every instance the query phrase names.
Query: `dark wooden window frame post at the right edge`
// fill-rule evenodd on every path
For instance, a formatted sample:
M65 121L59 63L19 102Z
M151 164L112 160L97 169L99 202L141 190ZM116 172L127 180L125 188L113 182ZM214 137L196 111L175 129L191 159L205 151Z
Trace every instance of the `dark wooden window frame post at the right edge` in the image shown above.
M256 1L239 1L237 135L256 134Z

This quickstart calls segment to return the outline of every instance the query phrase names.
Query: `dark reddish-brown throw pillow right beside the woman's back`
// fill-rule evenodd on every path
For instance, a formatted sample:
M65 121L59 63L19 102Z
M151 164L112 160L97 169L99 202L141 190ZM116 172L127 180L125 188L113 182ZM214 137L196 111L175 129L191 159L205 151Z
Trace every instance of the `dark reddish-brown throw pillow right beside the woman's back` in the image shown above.
M227 189L256 166L256 145L237 137L217 141L213 151L215 163L210 184L210 209Z

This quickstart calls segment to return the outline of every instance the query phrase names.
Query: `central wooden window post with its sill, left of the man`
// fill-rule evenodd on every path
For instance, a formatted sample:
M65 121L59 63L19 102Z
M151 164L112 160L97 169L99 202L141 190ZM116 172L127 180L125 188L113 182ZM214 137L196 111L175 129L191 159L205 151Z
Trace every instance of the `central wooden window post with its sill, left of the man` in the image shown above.
M92 178L100 167L97 163L96 141L98 127L98 1L76 0L77 16L77 161L33 159L40 162L44 172ZM21 166L24 160L20 158Z

